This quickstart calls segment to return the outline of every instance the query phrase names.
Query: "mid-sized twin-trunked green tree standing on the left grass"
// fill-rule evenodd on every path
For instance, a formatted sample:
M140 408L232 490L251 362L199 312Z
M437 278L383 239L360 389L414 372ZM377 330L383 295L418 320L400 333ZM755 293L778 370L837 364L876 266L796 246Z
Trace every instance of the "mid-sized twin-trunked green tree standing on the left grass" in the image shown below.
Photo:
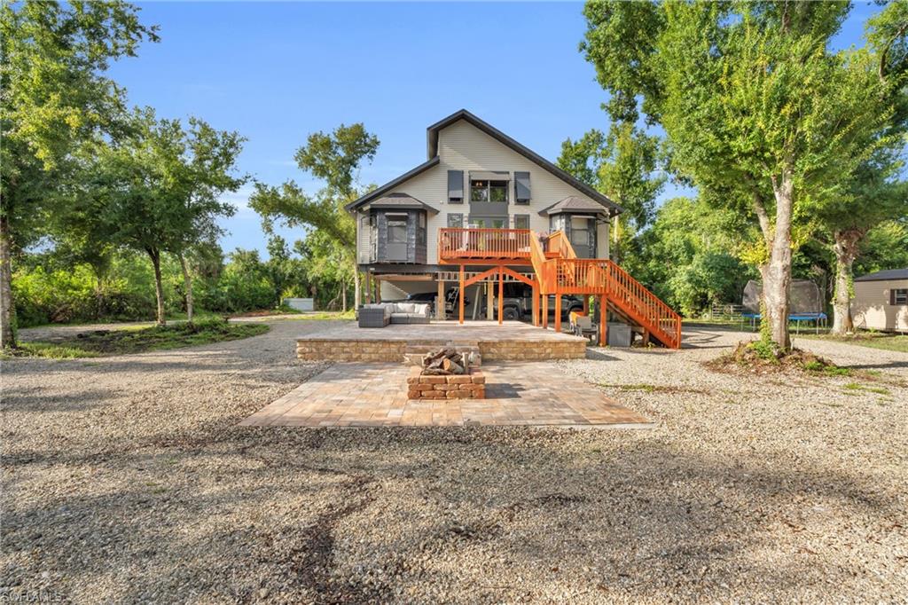
M184 254L221 233L216 220L235 209L220 201L244 182L232 173L242 137L219 132L196 118L158 120L150 109L133 117L133 132L98 146L95 212L116 242L146 253L154 270L156 320L165 322L161 258L180 261L192 322L192 277Z

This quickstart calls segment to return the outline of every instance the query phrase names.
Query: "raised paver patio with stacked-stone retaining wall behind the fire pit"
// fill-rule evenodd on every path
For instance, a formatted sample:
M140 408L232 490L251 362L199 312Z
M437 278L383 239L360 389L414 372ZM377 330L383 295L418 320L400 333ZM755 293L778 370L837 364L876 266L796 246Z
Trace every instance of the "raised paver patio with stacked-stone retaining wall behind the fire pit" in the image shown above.
M360 328L355 323L297 340L296 354L306 361L398 362L408 346L448 342L479 348L484 362L582 359L587 340L522 322L431 322Z

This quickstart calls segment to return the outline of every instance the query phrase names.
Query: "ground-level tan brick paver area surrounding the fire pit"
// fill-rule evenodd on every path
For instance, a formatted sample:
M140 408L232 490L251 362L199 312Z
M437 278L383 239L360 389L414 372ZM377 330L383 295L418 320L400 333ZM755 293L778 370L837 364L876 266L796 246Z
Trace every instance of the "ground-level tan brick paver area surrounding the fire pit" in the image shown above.
M596 426L646 418L549 362L482 366L486 399L407 399L410 366L338 363L241 422L244 426Z

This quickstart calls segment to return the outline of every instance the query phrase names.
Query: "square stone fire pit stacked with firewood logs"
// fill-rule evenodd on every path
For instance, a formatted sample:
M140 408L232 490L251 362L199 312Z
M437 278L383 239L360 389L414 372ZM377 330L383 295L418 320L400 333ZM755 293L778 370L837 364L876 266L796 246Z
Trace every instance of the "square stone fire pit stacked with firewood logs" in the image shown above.
M479 355L442 347L429 352L407 377L409 399L485 399L486 377L479 370Z

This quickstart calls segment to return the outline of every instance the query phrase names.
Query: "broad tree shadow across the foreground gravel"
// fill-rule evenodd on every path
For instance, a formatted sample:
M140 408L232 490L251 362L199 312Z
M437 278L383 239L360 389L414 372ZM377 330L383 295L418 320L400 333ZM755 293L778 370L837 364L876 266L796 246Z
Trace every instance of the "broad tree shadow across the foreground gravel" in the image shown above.
M194 432L159 435L132 455L121 443L106 459L42 461L119 481L92 496L74 485L7 505L4 551L31 563L6 565L3 585L91 569L112 574L121 601L185 599L191 587L202 600L255 600L264 588L292 600L386 602L431 581L466 602L500 600L501 590L540 600L525 586L567 578L603 598L665 598L684 587L723 600L729 573L776 587L845 580L815 553L755 562L778 524L795 542L808 535L803 519L778 512L793 500L846 517L901 514L879 486L835 469L588 431L212 423ZM571 453L568 439L577 441ZM489 552L494 560L483 563ZM436 559L463 571L449 575ZM56 588L65 594L65 584Z

